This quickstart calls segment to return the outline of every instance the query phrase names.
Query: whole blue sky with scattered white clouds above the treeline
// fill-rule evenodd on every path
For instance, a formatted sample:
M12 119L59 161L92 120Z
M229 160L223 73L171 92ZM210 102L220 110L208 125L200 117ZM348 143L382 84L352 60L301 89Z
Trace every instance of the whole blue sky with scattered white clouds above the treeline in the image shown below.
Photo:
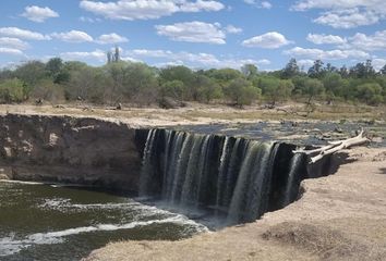
M2 0L0 15L0 67L52 57L100 65L116 45L156 66L386 64L385 0Z

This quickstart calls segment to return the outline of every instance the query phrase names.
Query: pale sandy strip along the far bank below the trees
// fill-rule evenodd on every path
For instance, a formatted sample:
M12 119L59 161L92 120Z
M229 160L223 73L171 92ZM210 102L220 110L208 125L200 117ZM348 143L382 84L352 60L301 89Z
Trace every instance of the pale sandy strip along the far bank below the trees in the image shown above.
M39 114L39 115L74 115L79 117L96 117L112 122L124 122L131 127L176 126L196 124L239 124L256 123L258 121L386 121L386 108L358 107L358 105L317 105L317 111L310 117L303 117L302 103L281 104L276 109L264 109L262 105L237 108L221 104L189 103L188 107L172 110L159 108L131 108L123 110L95 107L89 104L65 105L33 105L33 104L0 104L0 114ZM295 112L295 113L292 113Z

